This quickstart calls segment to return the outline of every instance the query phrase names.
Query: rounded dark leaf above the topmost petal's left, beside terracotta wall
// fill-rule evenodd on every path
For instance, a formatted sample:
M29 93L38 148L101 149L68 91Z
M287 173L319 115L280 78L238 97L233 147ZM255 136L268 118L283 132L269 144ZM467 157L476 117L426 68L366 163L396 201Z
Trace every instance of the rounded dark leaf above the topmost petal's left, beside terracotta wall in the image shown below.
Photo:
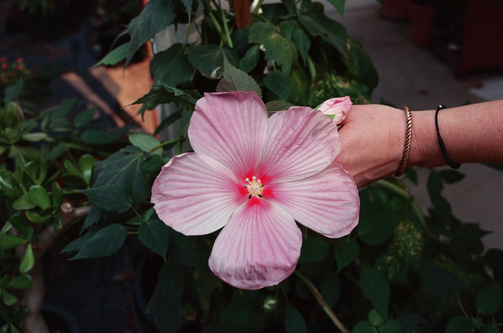
M176 43L169 49L156 53L150 61L150 75L154 82L173 86L190 81L194 75L194 67L185 54L184 45Z

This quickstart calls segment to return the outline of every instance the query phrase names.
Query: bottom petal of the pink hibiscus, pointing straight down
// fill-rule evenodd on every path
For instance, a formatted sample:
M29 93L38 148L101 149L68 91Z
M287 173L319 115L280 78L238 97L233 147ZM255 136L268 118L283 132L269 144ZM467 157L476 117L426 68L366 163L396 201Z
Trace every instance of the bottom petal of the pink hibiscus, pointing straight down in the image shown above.
M300 256L302 233L278 205L253 197L222 229L210 269L228 284L260 289L286 279Z

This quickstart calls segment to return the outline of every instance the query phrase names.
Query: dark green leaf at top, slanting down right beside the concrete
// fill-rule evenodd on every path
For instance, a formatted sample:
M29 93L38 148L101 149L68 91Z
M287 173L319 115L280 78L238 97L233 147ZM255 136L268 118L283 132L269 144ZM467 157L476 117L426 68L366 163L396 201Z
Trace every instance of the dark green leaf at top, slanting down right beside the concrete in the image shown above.
M346 55L348 32L342 24L317 12L299 15L299 22L312 36L321 37L341 52L343 56Z

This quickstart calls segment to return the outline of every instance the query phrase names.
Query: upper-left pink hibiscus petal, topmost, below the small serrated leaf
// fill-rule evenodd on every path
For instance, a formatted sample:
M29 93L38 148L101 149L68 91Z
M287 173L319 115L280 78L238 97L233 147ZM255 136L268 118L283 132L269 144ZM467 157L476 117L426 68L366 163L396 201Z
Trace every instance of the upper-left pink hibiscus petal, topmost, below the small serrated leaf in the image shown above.
M267 123L266 107L255 92L205 93L196 103L189 139L196 153L217 159L244 179L255 169Z

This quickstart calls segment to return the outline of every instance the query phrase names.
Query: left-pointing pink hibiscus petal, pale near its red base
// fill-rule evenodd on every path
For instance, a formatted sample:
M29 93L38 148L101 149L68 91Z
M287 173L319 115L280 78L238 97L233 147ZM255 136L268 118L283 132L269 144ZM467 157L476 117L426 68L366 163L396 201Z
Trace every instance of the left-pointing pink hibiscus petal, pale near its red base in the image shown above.
M185 235L206 235L222 228L242 205L242 181L220 163L195 153L173 157L152 186L159 218Z

